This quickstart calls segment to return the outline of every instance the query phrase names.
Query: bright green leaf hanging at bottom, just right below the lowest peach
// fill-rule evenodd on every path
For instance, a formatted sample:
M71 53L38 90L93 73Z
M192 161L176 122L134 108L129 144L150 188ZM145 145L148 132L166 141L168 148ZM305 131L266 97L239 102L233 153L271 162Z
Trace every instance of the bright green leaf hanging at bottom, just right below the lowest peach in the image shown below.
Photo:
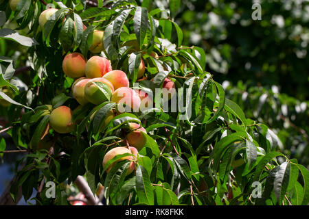
M153 188L148 171L143 166L137 166L135 185L139 202L154 205Z

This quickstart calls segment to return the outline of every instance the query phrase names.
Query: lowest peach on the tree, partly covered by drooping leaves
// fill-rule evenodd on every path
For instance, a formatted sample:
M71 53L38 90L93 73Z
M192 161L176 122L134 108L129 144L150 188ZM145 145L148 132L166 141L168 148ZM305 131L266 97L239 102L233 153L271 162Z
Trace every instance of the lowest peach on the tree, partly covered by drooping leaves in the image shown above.
M111 168L113 168L113 166L115 166L115 164L117 162L128 159L131 162L130 162L130 166L128 168L128 172L126 172L126 175L130 175L130 173L133 172L133 170L135 169L135 162L137 161L137 154L138 154L137 149L135 149L134 147L131 147L131 146L129 146L128 149L124 146L118 146L118 147L115 147L115 148L111 149L110 151L108 151L104 155L104 158L103 158L103 168L109 160L113 159L117 155L123 155L125 153L130 153L130 154L133 154L134 156L126 156L126 157L122 157L122 158L117 159L115 162L113 162L113 164L108 166L108 168L106 169L106 172L109 172L109 170L111 170Z

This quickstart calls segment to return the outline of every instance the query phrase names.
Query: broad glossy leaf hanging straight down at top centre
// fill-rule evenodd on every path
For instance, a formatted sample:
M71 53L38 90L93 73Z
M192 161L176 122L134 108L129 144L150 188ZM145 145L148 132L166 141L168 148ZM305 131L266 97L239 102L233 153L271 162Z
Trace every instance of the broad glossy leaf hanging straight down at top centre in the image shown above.
M139 48L141 48L148 29L148 11L146 8L137 7L133 17L133 29L137 42L139 42Z

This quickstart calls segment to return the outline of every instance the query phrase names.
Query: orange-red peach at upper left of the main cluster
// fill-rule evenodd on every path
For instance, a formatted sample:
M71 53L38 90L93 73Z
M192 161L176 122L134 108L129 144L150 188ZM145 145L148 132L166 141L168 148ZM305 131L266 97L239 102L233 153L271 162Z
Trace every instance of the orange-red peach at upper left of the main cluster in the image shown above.
M76 78L84 76L86 60L80 53L69 53L65 55L62 69L67 77Z

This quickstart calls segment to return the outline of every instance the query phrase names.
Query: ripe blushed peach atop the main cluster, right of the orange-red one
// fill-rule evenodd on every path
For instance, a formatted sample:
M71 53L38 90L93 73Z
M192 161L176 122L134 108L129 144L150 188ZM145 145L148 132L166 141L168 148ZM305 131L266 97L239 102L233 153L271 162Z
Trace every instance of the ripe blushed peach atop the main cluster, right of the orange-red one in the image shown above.
M95 78L102 77L111 70L113 69L109 60L107 60L105 57L95 55L88 60L85 73L86 77Z

